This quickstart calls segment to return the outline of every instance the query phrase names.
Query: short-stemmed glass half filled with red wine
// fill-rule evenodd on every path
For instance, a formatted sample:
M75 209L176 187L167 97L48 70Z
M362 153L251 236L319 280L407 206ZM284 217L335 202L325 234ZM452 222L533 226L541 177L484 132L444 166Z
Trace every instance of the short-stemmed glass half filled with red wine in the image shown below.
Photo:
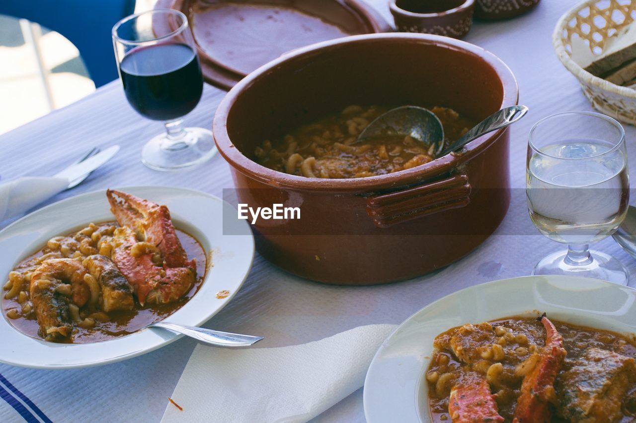
M172 9L130 15L113 27L113 46L128 103L141 116L165 124L165 133L144 145L141 161L155 170L174 170L211 159L212 132L183 126L183 116L203 93L186 15Z

